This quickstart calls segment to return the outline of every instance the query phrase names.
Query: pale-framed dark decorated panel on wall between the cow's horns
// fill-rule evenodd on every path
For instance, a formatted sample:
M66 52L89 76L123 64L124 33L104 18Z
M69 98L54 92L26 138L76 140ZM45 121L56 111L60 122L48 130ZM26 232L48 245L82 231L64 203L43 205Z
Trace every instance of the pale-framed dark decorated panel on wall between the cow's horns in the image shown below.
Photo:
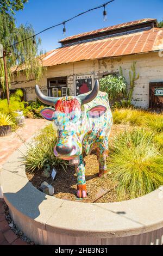
M74 84L76 95L90 92L90 90L92 90L92 80L92 75L75 76Z

